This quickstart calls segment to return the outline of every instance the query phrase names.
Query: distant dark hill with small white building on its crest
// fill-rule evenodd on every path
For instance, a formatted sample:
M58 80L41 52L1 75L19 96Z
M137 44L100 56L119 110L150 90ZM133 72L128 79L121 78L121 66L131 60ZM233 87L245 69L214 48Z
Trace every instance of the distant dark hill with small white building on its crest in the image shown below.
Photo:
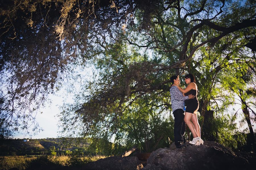
M55 152L64 153L65 150L78 148L86 150L89 145L87 140L75 138L29 139L28 142L23 139L5 139L0 141L0 155L45 155L49 154L50 150L53 151L53 148Z

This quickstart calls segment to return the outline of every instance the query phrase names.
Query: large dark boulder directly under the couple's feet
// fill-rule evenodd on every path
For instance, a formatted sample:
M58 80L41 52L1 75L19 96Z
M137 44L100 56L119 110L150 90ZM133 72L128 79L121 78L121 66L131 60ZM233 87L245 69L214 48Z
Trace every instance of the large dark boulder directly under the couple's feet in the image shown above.
M160 148L150 155L143 170L169 169L248 169L248 161L237 156L232 150L212 141L205 141L204 145L189 145L176 149Z

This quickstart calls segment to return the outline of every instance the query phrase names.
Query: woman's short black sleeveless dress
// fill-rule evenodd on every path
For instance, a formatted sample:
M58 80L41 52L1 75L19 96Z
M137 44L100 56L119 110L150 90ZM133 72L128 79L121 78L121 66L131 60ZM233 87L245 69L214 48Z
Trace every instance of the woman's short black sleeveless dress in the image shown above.
M185 96L187 96L189 94L194 95L195 98L185 100L185 106L186 106L185 112L197 114L197 111L199 108L199 102L197 100L197 91L194 89L191 89L191 90L189 90L189 92L185 93Z

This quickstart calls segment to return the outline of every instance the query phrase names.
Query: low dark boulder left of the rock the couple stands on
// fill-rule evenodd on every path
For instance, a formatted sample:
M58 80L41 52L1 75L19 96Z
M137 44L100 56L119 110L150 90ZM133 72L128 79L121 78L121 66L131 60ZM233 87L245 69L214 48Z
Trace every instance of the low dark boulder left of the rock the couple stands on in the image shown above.
M82 169L86 170L136 170L141 169L139 159L135 156L120 157L111 156L86 164Z

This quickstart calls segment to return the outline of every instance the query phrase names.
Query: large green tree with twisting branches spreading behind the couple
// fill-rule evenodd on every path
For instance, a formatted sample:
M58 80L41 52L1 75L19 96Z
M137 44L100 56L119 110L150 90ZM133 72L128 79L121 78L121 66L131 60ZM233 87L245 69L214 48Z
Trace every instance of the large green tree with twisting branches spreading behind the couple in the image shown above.
M211 109L223 113L228 105L234 102L230 100L234 99L234 96L222 92L225 90L220 86L220 83L225 82L223 70L225 68L234 70L236 65L244 62L238 53L243 53L245 44L255 36L255 26L248 26L245 33L239 25L240 22L236 22L239 20L237 17L244 17L246 8L252 8L252 6L250 7L249 3L246 4L248 6L241 6L239 2L224 3L216 2L219 12L211 14L210 10L207 10L206 18L203 18L202 14L197 15L204 12L205 8L212 7L212 4L204 2L201 6L197 4L197 7L200 7L198 10L189 4L188 7L192 9L186 11L196 11L191 14L181 12L187 5L183 2L168 6L162 4L160 9L155 7L156 11L150 13L148 18L143 10L136 10L132 15L133 21L125 25L126 29L122 31L123 34L120 33L114 45L104 46L106 42L101 44L105 53L96 63L96 67L100 69L100 77L92 82L94 86L88 86L85 94L90 95L83 96L85 102L82 105L80 103L74 107L68 105L69 111L63 112L65 113L64 122L72 124L80 118L85 124L82 129L85 134L90 134L98 123L108 124L104 127L112 127L113 130L111 128L97 130L99 130L98 134L104 131L104 134L109 132L111 136L118 130L116 124L121 121L123 114L135 107L137 100L147 94L166 96L170 86L170 76L180 71L192 72L199 80L201 125L203 125L205 113L214 113ZM224 14L222 14L222 8L226 9ZM240 15L238 15L239 12ZM210 15L213 15L212 18ZM255 17L254 12L250 17ZM232 26L227 26L227 23ZM197 54L195 54L196 50ZM254 58L249 57L248 62L254 61ZM184 65L185 62L186 65ZM230 68L233 64L235 66ZM170 101L168 96L166 98ZM217 100L222 102L216 102ZM158 99L158 103L148 101L149 106L153 104L167 111L170 109L170 106L163 107L168 106L168 102L164 99ZM73 109L70 111L70 108ZM68 117L70 112L76 115L73 119ZM158 114L162 115L161 112ZM218 115L215 114L215 117ZM213 115L208 118L213 118ZM208 133L218 134L218 127L212 127L215 127L216 131L213 129ZM129 130L132 131L132 128ZM94 131L93 134L95 133L97 132Z

